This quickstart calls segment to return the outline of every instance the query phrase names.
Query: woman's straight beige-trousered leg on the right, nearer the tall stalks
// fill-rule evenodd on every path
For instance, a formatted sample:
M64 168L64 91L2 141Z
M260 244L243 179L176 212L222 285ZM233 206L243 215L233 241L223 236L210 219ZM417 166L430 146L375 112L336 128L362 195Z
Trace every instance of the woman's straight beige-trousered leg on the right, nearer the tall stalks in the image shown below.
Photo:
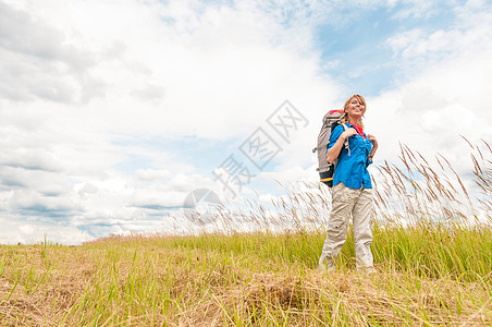
M358 199L355 203L352 217L354 220L354 241L357 269L368 268L373 266L373 258L371 253L372 242L372 190L360 190Z

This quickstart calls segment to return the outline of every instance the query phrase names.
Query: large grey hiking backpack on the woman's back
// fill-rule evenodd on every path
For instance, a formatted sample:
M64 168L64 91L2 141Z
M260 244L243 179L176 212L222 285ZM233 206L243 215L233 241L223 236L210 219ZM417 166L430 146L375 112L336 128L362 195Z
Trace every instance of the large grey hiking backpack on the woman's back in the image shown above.
M333 164L328 162L327 148L330 143L330 134L339 124L342 124L345 131L348 129L346 124L340 121L342 114L343 110L330 110L324 114L323 124L318 135L318 146L312 149L312 153L318 152L318 168L316 170L319 172L320 181L329 187L333 186L333 173L337 159ZM348 138L345 140L344 146L349 150Z

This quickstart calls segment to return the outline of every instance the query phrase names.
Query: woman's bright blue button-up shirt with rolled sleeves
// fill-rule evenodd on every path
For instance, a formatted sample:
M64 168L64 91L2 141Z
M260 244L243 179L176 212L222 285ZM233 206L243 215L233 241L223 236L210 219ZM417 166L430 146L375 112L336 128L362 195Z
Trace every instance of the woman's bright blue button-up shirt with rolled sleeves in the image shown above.
M350 123L346 123L346 125L353 128ZM339 140L343 131L342 125L333 129L327 152L336 143L336 140ZM348 154L345 147L342 147L340 152L335 173L333 174L333 186L342 182L349 189L372 189L371 177L367 170L367 167L372 164L368 159L369 152L372 148L372 142L368 137L364 138L359 134L355 134L348 137L348 147L350 154Z

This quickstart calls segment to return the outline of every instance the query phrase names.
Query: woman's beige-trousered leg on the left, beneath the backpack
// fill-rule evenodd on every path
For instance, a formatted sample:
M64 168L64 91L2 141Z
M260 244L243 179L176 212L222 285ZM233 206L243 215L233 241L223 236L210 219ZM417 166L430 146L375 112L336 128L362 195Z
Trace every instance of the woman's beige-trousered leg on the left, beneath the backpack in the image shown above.
M349 189L339 183L332 191L332 209L328 222L328 234L324 240L321 257L319 258L320 270L335 270L335 259L347 239L347 226L354 202L349 199Z

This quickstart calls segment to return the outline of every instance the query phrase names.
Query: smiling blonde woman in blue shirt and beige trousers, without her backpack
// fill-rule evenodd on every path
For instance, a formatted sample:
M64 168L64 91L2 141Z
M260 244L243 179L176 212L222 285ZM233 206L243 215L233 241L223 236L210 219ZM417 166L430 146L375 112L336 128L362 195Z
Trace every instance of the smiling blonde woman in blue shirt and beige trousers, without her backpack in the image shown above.
M370 244L372 241L372 184L367 167L378 149L374 136L362 131L366 100L354 95L344 105L343 125L333 129L327 149L327 160L337 159L333 175L332 210L328 235L319 259L320 270L335 270L335 259L347 239L352 214L357 269L374 271ZM348 138L348 149L343 144Z

